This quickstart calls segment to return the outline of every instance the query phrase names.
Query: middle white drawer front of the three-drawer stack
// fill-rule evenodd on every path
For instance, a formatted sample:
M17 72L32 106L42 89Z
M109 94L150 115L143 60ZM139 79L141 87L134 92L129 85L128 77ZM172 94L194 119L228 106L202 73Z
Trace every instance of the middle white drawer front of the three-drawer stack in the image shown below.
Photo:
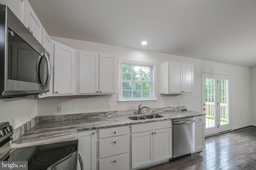
M99 140L99 158L129 152L129 136Z

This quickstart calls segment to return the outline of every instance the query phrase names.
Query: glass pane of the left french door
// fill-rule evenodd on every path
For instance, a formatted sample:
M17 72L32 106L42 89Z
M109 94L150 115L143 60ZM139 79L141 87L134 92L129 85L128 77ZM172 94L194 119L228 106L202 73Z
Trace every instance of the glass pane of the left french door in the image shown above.
M206 129L215 127L215 79L205 78L205 113L206 113Z

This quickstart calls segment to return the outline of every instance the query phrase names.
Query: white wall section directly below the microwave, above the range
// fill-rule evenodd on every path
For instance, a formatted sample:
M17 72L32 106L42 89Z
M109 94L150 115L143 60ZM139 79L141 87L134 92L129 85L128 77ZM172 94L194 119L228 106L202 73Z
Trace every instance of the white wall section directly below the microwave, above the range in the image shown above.
M37 116L37 99L33 96L0 99L0 122L15 117L15 128Z

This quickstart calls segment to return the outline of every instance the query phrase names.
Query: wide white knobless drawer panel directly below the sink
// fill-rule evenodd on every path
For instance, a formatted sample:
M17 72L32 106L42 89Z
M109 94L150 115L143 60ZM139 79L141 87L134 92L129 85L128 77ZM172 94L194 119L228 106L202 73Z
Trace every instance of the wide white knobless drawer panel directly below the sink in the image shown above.
M172 127L172 121L158 121L153 123L142 123L132 126L132 133L152 131Z

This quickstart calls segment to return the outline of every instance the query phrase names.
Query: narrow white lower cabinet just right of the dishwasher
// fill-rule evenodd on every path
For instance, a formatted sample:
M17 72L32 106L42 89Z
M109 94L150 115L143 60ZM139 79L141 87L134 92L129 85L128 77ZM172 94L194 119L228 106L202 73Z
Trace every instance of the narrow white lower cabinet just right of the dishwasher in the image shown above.
M204 148L205 116L195 117L195 150Z

